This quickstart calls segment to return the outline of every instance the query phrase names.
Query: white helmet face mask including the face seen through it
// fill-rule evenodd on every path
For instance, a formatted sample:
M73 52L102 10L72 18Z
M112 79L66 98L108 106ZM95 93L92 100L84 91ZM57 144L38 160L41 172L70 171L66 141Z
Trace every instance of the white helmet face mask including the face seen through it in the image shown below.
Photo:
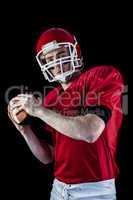
M36 59L41 71L49 82L65 82L66 78L82 66L82 60L78 58L76 44L70 42L50 42L44 45L38 52ZM56 52L56 56L54 56ZM50 55L50 58L48 58ZM52 55L52 56L51 56ZM58 74L53 74L52 69L58 67Z

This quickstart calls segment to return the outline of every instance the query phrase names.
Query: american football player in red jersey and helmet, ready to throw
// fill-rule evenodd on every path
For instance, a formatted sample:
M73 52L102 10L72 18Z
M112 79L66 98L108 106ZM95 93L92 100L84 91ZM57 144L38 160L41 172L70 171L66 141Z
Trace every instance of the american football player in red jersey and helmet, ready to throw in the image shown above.
M39 106L33 95L19 94L10 101L9 117L14 109L24 110L41 119L52 135L49 145L29 125L12 120L42 163L54 161L51 200L115 200L116 149L122 123L120 72L105 65L82 72L80 45L62 28L50 28L40 35L36 59L44 78L59 85Z

